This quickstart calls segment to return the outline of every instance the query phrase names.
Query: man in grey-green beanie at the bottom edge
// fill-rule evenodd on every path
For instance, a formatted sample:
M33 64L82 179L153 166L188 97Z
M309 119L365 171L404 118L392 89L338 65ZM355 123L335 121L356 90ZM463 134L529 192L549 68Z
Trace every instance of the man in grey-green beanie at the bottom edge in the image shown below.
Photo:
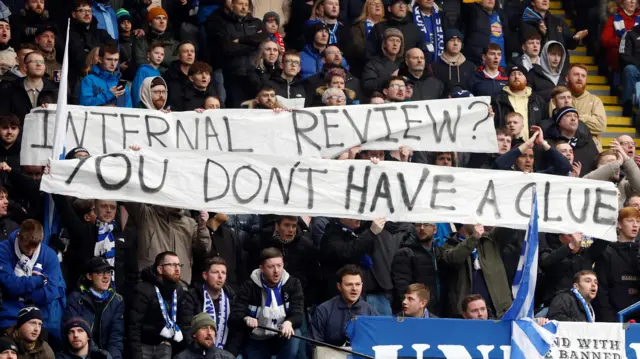
M174 359L233 359L231 353L216 347L216 322L207 313L197 314L191 319L189 347Z

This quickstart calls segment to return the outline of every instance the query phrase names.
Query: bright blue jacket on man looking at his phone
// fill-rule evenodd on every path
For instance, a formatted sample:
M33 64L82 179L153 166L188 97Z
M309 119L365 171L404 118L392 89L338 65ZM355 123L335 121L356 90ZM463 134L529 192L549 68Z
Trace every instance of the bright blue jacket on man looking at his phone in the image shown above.
M89 75L85 76L80 83L80 105L103 106L114 104L117 107L133 107L128 87L125 86L124 95L118 98L109 90L118 85L120 76L120 72L108 73L100 69L98 65L93 65Z

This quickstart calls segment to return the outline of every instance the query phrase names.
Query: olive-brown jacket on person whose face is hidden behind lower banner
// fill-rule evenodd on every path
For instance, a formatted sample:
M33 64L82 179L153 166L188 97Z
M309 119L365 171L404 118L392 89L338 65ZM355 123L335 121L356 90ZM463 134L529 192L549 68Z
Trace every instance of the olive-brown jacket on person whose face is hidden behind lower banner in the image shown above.
M211 249L207 227L199 228L193 218L178 209L134 202L125 202L125 207L138 225L139 268L152 265L158 254L173 251L184 264L180 279L190 283L193 251Z

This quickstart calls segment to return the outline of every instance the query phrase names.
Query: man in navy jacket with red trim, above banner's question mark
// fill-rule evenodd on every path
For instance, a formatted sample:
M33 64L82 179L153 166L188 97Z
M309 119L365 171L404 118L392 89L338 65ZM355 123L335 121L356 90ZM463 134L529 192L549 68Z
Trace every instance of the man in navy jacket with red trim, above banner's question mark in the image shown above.
M484 65L478 67L476 72L469 77L466 88L474 96L494 97L507 86L509 78L500 67L502 48L497 44L489 44L482 55ZM497 117L496 117L497 118Z

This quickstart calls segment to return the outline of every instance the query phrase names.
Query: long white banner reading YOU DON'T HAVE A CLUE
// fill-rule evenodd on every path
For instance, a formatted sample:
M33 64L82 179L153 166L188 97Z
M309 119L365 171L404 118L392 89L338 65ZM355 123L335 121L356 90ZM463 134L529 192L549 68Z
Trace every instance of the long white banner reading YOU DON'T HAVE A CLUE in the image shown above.
M541 232L616 240L612 183L516 171L142 149L52 161L41 189L212 212L386 216L525 229L535 184Z

